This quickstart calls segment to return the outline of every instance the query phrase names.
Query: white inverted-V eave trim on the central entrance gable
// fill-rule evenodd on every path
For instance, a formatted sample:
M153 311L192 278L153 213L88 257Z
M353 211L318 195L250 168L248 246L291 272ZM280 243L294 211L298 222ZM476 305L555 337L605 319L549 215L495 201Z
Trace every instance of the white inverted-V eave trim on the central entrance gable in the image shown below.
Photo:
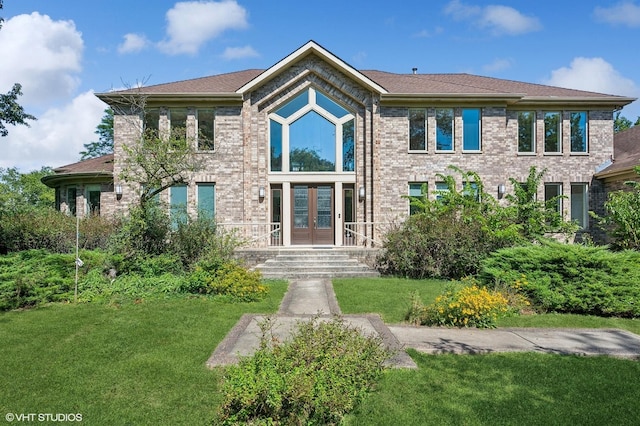
M265 70L263 73L258 75L256 78L252 79L251 81L246 83L244 86L240 87L236 91L236 93L242 95L244 93L251 92L256 87L259 87L260 85L262 85L263 83L265 83L266 81L268 81L269 79L271 79L272 77L280 73L282 70L286 69L291 64L297 62L298 60L312 53L320 56L325 61L331 63L333 66L340 69L343 73L352 77L354 80L358 81L360 84L367 87L369 90L373 90L378 93L388 93L384 87L380 86L378 83L371 80L369 77L365 76L360 71L353 68L351 65L347 64L342 59L338 58L333 53L329 52L328 50L326 50L325 48L323 48L322 46L320 46L314 41L309 41L304 46L300 47L293 53L289 54L284 59L280 60L275 65L273 65L272 67L270 67L269 69Z

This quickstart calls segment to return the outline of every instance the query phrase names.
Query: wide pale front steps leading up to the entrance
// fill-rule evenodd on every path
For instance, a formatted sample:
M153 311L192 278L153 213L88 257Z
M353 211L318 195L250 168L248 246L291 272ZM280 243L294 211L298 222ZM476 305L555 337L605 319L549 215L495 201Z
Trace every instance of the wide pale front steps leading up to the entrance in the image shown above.
M276 254L277 253L277 254ZM349 251L318 249L280 249L275 256L255 266L264 278L346 278L377 277L374 268L352 258Z

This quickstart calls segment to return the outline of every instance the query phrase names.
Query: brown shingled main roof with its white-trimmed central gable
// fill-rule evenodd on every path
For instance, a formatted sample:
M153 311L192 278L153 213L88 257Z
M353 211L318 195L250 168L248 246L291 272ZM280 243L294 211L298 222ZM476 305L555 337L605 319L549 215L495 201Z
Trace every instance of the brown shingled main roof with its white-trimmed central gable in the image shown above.
M384 71L360 71L309 41L266 70L250 69L192 80L158 84L97 96L109 103L118 96L151 95L154 99L233 100L241 101L244 94L266 83L301 59L316 55L353 78L364 87L378 93L383 101L416 102L428 100L500 100L509 104L537 105L595 105L611 109L621 108L634 98L565 89L542 84L524 83L472 74L395 74Z

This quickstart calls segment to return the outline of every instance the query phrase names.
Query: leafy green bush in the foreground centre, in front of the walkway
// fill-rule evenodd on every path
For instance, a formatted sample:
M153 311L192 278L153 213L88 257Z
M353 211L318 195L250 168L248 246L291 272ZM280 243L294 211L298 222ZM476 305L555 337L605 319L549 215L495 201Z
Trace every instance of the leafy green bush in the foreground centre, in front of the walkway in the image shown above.
M369 392L390 353L342 319L299 323L277 342L263 323L260 349L225 375L216 424L339 424Z

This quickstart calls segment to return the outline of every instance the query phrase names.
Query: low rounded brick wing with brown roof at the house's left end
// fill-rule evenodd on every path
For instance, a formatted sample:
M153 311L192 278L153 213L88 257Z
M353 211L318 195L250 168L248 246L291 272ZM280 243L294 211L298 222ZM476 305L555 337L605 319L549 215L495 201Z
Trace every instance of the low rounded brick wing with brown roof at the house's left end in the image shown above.
M53 169L42 182L56 190L56 208L71 215L113 215L113 154Z

